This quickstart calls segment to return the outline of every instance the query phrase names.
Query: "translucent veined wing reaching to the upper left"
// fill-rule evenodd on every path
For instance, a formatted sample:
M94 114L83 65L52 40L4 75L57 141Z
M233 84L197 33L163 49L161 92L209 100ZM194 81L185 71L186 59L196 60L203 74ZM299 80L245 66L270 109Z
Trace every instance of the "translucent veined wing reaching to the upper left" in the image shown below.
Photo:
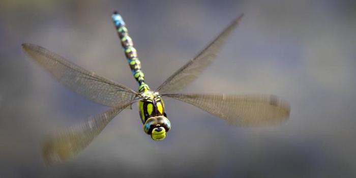
M87 71L41 46L25 43L22 48L55 79L97 103L113 107L131 102L137 95L131 88Z

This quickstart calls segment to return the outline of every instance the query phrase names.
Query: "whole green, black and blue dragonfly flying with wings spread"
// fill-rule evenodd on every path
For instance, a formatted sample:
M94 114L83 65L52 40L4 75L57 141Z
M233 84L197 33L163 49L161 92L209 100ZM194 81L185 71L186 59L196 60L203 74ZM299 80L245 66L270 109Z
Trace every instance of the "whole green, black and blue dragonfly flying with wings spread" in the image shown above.
M44 161L51 164L74 157L87 147L118 113L136 102L143 131L153 140L163 140L171 129L163 102L166 97L196 106L234 126L259 126L286 121L289 118L290 106L275 95L179 93L217 58L217 53L242 17L243 14L235 18L211 43L168 77L155 91L144 81L137 51L125 21L117 11L114 11L111 18L132 74L138 82L138 91L85 70L41 46L22 44L25 53L57 81L89 100L110 107L85 122L50 134L42 145Z

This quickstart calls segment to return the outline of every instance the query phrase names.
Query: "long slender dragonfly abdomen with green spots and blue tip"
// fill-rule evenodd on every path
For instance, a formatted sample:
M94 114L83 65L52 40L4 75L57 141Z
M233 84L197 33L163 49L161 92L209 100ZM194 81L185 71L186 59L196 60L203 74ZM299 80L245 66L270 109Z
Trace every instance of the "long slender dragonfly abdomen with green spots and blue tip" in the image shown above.
M138 91L142 92L150 90L149 85L144 83L144 74L141 71L141 62L137 57L136 49L133 47L133 42L129 36L125 21L117 12L112 14L112 20L116 27L117 34L120 37L121 45L130 65L131 72L139 84Z

